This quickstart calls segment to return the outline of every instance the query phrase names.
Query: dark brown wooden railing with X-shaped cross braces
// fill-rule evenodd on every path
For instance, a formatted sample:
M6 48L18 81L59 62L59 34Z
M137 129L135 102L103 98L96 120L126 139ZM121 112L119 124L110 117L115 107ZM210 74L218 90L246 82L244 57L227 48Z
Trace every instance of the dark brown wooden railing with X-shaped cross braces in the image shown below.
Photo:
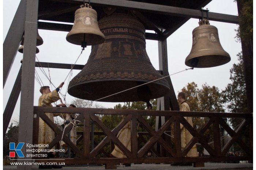
M63 132L54 122L52 122L46 115L45 112L52 113L78 113L76 120L83 124L83 150L79 149L74 145L67 137L67 134L72 129L73 124L68 124ZM124 115L124 119L113 129L109 130L96 114L102 115ZM36 116L35 116L36 115ZM155 131L153 127L149 126L143 116L165 116L168 119L165 123ZM208 121L198 130L195 130L188 122L184 119L186 117L207 117ZM181 112L181 111L146 111L146 110L116 110L116 109L102 109L102 108L60 108L60 107L37 107L34 106L34 130L33 130L33 142L34 144L38 141L38 120L42 118L56 133L56 137L49 144L47 149L51 149L54 145L59 143L63 137L63 141L73 150L76 154L76 158L65 158L66 164L106 164L106 169L116 168L118 163L173 163L173 162L193 162L194 166L204 166L204 162L221 162L221 161L244 161L252 160L253 158L253 117L252 114L244 113L219 113L219 112ZM223 120L223 118L242 118L242 122L237 130L231 129L231 127ZM105 134L105 138L95 144L98 144L93 149L90 148L90 134L91 134L91 121L96 123L98 127ZM116 137L117 133L121 128L131 121L131 151L129 151ZM148 141L145 141L144 146L139 148L138 146L138 122L141 127L147 130L147 133L151 136ZM180 123L192 134L193 138L188 145L181 149L181 136L180 136ZM163 138L163 134L166 129L174 125L174 140L173 145L170 141L166 141ZM213 125L213 147L208 144L208 141L204 139L204 133L207 129ZM221 147L221 130L220 127L230 135L230 139L226 144ZM247 131L249 137L247 141L243 141L241 135ZM101 134L102 134L101 133ZM81 141L81 139L79 139ZM99 153L106 154L103 147L108 143L114 143L121 151L127 156L127 158L99 158L96 157ZM237 143L242 150L244 155L239 157L229 157L226 155L230 147ZM161 145L161 147L168 153L168 157L161 157L156 150L154 150L155 143ZM210 157L185 157L188 151L192 148L195 143L200 143L210 154ZM153 150L157 157L146 158L148 150ZM110 155L110 154L106 154ZM39 162L39 160L38 160ZM42 161L41 161L42 162ZM44 161L45 162L45 161ZM48 160L53 162L53 160ZM55 161L58 162L58 161Z

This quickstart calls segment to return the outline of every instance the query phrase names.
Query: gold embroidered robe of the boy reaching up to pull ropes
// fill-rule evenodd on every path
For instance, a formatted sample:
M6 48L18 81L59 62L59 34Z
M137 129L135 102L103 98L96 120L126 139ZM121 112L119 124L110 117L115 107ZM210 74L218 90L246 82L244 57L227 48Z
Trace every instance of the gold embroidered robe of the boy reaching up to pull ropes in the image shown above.
M57 102L60 99L60 96L56 90L48 94L41 95L38 100L38 106L48 106L52 107L53 102ZM45 113L50 120L54 122L52 113ZM39 133L38 133L38 144L49 144L54 139L54 131L42 120L39 118ZM40 147L39 149L42 149Z

